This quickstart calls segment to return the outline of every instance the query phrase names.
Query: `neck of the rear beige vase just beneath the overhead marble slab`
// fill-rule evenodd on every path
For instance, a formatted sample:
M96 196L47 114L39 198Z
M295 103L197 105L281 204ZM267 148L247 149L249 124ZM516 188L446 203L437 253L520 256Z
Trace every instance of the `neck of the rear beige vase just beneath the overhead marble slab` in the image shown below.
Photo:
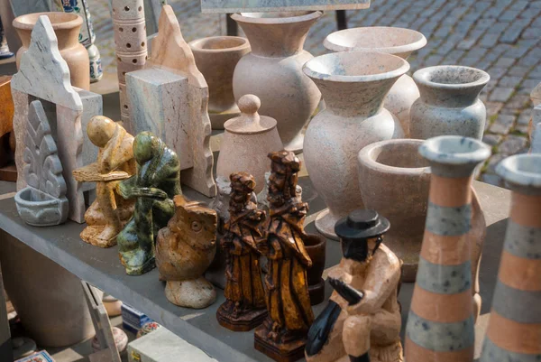
M285 58L303 51L308 31L316 20L298 23L239 23L250 41L252 54Z

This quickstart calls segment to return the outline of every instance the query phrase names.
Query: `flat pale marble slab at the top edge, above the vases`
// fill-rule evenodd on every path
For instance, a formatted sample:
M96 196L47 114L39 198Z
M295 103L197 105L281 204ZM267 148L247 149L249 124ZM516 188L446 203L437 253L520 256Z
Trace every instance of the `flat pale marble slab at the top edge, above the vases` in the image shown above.
M369 7L370 0L201 0L203 14L357 10Z

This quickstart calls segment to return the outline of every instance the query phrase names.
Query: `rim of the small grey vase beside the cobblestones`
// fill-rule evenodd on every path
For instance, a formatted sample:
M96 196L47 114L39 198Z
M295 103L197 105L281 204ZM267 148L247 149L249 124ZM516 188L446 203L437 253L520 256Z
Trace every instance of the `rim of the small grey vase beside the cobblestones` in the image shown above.
M440 80L445 79L445 77L460 77L461 75L465 75L464 78L470 76L472 79L468 81L457 80L453 83L447 83ZM460 90L465 88L484 87L489 80L491 80L491 76L486 71L478 70L477 68L465 67L462 65L436 65L434 67L417 70L413 73L413 79L417 84L429 88Z

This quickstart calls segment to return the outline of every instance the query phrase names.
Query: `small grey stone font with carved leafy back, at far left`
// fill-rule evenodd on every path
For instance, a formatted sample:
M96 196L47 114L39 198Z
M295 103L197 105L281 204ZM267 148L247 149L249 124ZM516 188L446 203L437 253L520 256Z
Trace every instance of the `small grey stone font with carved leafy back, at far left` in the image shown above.
M17 211L34 227L62 224L69 212L66 181L49 120L39 100L29 106L24 145L23 174L28 186L15 194Z

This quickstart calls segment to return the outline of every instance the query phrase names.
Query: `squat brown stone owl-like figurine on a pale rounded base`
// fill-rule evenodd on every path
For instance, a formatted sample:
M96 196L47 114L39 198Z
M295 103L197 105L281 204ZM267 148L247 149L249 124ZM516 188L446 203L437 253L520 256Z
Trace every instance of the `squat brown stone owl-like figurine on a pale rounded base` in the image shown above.
M203 274L216 251L215 210L175 196L175 215L156 239L156 265L167 299L180 307L206 308L216 292Z

